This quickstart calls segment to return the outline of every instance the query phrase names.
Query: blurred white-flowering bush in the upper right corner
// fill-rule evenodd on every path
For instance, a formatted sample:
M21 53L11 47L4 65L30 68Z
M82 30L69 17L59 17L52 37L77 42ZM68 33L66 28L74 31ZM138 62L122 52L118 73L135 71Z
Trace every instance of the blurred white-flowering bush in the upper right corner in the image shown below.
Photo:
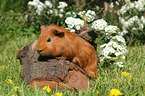
M132 37L131 39L145 36L145 0L134 2L130 0L118 0L115 3L112 2L111 6L117 11L123 34L127 33L126 35Z

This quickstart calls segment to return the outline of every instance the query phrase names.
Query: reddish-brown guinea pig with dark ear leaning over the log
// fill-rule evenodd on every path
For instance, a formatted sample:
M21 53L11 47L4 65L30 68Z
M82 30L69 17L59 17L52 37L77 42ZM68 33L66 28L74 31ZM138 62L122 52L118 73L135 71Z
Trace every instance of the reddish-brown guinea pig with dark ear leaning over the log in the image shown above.
M91 77L97 77L95 49L84 39L59 26L41 28L36 49L42 56L59 57L79 65Z

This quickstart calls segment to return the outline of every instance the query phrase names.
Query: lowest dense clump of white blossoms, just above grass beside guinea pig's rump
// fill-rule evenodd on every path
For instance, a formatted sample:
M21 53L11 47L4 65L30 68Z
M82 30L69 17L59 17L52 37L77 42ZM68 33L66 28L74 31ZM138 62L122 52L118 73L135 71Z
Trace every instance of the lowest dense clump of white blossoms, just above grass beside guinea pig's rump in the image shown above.
M116 60L114 64L118 65L119 67L123 67L122 61L125 60L127 49L125 44L123 43L125 41L124 38L122 40L120 38L122 38L122 36L115 36L107 44L101 45L100 48L102 49L102 55L100 61L105 60L109 63L112 63ZM119 41L119 39L121 41Z

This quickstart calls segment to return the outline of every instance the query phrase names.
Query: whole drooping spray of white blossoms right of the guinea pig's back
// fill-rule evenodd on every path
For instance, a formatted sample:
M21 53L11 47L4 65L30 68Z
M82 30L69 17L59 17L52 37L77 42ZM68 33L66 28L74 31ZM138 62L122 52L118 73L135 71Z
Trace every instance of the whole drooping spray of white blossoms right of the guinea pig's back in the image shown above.
M104 35L105 42L100 46L100 61L116 64L123 67L123 61L127 53L125 39L117 26L107 25L103 19L93 22L92 28Z

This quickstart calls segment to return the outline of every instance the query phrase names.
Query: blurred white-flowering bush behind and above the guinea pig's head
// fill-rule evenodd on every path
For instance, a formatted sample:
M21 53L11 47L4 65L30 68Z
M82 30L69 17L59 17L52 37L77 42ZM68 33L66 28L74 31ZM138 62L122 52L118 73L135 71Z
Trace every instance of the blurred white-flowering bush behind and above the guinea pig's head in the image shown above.
M28 19L32 24L39 28L40 25L62 24L65 18L65 2L45 1L42 3L39 0L28 2L29 10L27 12Z

